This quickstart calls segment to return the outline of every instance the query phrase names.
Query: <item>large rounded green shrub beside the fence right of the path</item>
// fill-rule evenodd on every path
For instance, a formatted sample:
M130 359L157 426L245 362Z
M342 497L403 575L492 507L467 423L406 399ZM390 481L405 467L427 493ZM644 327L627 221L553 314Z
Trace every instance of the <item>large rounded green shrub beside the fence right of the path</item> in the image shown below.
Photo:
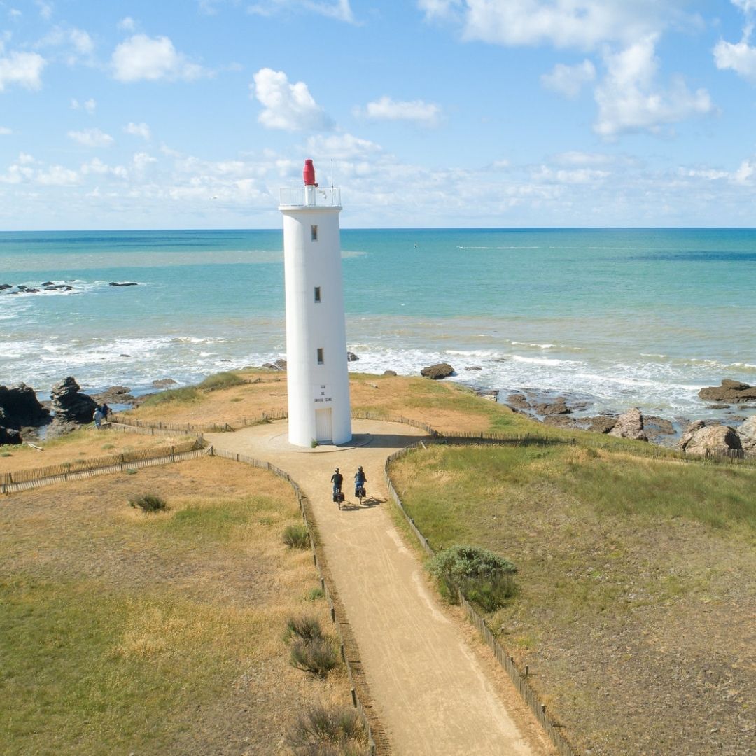
M486 612L493 612L515 593L517 568L492 551L473 546L453 546L433 557L428 566L452 598L457 588Z

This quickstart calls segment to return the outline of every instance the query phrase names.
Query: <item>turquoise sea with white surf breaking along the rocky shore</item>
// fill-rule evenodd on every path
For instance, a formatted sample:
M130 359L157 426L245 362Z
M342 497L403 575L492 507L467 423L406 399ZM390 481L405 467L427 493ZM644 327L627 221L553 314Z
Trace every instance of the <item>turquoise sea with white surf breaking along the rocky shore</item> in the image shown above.
M668 417L756 383L754 230L342 230L342 255L352 370L447 361ZM10 293L47 281L73 290ZM0 283L0 384L139 392L285 356L280 230L0 233Z

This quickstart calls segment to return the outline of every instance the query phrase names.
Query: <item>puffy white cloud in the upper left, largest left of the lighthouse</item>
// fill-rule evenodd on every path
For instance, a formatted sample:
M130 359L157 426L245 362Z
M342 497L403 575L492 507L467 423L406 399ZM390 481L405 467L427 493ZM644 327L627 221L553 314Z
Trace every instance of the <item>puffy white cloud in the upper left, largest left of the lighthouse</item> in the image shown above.
M135 34L121 42L113 51L110 64L113 76L121 82L193 81L208 75L203 67L178 53L168 37L153 39L144 34Z

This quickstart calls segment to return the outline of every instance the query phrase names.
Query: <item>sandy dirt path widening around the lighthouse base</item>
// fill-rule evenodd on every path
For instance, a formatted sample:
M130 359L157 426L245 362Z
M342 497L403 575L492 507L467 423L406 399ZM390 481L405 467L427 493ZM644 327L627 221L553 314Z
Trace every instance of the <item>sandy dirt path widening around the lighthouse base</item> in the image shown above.
M386 457L416 442L420 432L360 420L354 421L353 432L348 447L305 450L288 443L286 423L208 433L206 438L216 448L274 463L310 498L393 754L547 753L549 749L523 737L502 700L500 680L497 688L460 625L438 606L421 565L386 511ZM367 499L361 507L353 495L358 465L367 474ZM346 494L340 511L329 483L337 466Z

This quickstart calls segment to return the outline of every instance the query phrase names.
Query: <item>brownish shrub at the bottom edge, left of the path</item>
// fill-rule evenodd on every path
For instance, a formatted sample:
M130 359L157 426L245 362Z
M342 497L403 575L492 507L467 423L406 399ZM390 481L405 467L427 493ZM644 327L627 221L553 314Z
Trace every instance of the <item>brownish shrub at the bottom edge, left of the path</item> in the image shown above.
M287 738L296 756L367 756L367 738L352 708L317 705L299 714Z

